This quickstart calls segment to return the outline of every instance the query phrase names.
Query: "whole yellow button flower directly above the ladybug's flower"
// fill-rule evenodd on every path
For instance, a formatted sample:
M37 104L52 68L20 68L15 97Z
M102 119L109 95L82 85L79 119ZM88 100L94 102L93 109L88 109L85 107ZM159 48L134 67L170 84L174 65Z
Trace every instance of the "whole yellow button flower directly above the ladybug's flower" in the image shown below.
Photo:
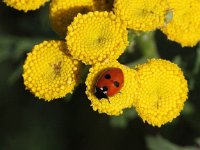
M66 37L71 55L85 64L117 59L128 45L126 25L112 12L89 12L78 16Z

